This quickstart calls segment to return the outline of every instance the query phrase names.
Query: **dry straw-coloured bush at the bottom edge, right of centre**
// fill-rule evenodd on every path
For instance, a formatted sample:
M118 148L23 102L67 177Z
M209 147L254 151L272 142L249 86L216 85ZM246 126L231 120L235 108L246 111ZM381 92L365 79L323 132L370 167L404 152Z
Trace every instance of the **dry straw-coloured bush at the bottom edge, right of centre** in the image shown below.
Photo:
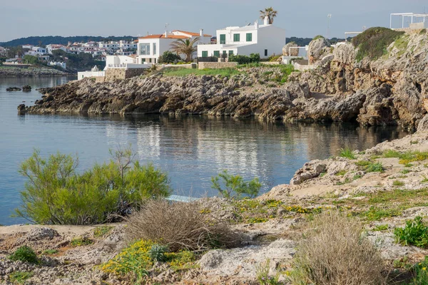
M307 224L293 259L292 284L382 285L384 261L362 235L362 224L339 212Z

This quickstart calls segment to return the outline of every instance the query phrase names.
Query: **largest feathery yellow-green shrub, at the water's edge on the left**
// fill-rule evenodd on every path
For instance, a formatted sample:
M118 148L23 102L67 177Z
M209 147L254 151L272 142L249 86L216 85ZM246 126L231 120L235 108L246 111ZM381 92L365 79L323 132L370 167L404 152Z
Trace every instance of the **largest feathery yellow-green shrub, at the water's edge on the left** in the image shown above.
M170 195L161 170L133 162L129 149L111 154L110 162L79 174L71 155L57 153L45 160L35 151L21 164L28 182L16 215L37 224L98 224L115 221L146 199Z

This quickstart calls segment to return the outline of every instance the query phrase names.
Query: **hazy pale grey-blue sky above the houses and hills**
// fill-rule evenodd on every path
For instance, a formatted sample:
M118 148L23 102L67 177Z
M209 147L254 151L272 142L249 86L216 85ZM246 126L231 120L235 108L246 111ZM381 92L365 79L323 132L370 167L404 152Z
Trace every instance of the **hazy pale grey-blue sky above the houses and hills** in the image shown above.
M243 26L259 10L278 11L275 25L287 36L330 36L362 26L389 26L389 14L428 12L428 0L0 0L0 41L27 36L123 36L180 29L215 34ZM397 19L397 25L399 20Z

